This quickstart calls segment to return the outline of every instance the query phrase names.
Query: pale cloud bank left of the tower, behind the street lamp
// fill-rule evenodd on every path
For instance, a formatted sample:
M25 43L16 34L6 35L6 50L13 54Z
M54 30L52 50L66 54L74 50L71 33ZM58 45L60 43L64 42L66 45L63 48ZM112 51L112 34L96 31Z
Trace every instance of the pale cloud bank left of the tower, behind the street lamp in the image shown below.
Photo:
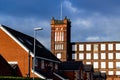
M30 36L33 36L33 29L35 27L42 27L43 30L37 32L36 37L41 43L43 43L44 46L50 48L48 45L50 44L49 21L32 17L20 18L15 16L0 15L0 23Z

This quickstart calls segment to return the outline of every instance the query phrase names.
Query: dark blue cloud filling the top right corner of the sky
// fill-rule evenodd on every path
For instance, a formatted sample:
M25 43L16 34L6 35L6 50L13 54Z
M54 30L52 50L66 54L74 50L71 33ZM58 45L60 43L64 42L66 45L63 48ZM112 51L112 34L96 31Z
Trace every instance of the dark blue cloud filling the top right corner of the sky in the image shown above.
M118 14L120 0L71 0L73 6L88 13L99 12L104 15ZM119 12L120 13L120 12Z

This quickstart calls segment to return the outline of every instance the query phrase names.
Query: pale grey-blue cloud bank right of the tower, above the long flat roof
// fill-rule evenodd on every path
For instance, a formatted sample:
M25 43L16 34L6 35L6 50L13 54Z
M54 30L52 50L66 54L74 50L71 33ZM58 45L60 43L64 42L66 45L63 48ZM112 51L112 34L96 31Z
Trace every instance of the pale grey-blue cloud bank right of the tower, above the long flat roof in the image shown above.
M119 41L120 16L94 13L72 20L72 41Z

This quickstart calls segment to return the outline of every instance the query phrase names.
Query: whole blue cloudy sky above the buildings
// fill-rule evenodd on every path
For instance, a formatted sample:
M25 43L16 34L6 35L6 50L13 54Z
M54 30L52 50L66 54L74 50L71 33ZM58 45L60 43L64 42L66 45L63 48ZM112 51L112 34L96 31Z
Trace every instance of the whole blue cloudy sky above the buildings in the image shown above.
M33 36L50 49L52 17L71 20L71 42L120 41L120 0L0 0L0 24Z

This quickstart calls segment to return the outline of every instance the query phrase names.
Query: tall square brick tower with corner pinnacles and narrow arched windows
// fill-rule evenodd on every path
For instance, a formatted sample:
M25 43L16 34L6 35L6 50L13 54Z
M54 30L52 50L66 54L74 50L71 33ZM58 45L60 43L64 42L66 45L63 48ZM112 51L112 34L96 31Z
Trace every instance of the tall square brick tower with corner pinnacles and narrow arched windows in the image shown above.
M61 61L71 60L71 21L51 20L51 51Z

